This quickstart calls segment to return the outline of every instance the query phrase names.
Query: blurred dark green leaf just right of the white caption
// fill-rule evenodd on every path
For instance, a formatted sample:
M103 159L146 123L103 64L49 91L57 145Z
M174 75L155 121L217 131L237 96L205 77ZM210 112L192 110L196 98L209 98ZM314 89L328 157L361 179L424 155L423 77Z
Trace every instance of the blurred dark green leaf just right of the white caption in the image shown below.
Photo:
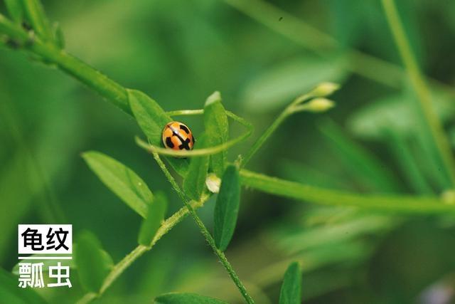
M112 268L112 259L107 261L101 253L102 246L90 231L83 231L77 239L75 263L80 283L85 290L97 293Z

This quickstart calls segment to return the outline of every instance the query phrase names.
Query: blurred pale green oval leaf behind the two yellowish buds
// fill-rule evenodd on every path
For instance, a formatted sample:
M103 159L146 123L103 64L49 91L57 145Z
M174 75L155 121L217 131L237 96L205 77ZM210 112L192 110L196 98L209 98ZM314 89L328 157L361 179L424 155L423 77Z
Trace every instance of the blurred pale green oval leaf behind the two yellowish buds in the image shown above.
M323 59L306 56L288 60L260 73L247 85L242 99L252 112L281 108L319 83L343 83L347 75L345 63L343 57Z

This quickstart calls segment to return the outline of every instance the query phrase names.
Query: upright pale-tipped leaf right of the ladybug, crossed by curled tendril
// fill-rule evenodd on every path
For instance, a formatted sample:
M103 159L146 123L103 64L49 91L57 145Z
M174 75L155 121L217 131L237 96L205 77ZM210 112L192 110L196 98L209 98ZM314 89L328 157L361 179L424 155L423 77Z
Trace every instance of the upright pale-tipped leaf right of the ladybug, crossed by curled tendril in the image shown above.
M204 126L205 133L207 134L207 137L210 138L210 145L222 145L228 141L228 116L226 115L225 108L221 103L221 95L219 92L213 93L205 101ZM213 172L215 172L218 177L220 177L224 172L226 154L226 151L222 151L218 154L213 154L210 157Z

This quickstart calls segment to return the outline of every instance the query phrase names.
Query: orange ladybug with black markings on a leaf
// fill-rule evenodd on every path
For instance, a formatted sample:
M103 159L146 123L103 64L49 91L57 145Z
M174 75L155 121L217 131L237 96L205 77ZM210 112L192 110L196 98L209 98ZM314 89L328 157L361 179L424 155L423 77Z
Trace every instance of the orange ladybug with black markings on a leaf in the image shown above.
M166 148L192 150L195 141L190 128L181 122L169 122L163 129L163 144Z

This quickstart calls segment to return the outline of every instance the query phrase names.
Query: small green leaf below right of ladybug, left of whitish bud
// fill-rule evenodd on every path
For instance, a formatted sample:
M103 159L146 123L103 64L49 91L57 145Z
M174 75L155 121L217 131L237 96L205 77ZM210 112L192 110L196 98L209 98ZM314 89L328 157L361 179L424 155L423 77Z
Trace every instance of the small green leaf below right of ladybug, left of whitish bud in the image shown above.
M205 134L198 137L195 147L208 147L208 138ZM183 191L190 197L198 201L205 189L205 179L207 178L209 155L192 157L188 173L183 180Z

